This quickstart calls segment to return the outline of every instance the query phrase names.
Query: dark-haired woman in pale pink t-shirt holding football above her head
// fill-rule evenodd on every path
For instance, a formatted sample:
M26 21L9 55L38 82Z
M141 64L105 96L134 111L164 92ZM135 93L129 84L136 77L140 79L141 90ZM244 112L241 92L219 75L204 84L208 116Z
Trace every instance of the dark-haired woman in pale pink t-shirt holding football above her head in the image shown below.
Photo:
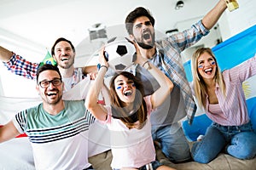
M137 54L142 65L160 84L154 94L144 96L143 84L130 72L122 71L110 81L111 105L97 103L102 89L108 62L100 56L101 68L85 100L87 109L96 119L107 123L111 131L113 169L173 169L155 161L154 142L151 136L150 112L171 93L173 84L164 73Z

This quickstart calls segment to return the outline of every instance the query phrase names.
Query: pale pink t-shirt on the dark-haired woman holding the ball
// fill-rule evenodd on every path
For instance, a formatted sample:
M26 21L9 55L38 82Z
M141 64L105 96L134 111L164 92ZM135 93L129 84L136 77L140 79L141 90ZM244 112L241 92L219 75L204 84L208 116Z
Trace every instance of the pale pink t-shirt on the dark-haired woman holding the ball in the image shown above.
M149 110L148 120L142 129L127 128L123 122L111 116L111 107L106 106L108 110L106 123L110 130L113 154L112 168L142 167L155 160L154 143L151 137L151 123L149 120L152 105L149 96L145 97L144 100Z

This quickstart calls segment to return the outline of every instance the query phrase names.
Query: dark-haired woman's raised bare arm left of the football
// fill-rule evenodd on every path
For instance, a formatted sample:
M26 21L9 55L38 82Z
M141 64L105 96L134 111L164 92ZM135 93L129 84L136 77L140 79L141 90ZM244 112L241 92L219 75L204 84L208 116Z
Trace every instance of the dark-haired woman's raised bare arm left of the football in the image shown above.
M101 59L102 58L102 59ZM108 63L103 57L103 48L100 56L100 64L102 65L98 74L96 76L95 81L92 83L90 90L87 94L85 99L85 106L86 108L93 114L96 119L105 121L107 118L108 111L101 105L98 104L98 96L101 92L104 76L108 71Z

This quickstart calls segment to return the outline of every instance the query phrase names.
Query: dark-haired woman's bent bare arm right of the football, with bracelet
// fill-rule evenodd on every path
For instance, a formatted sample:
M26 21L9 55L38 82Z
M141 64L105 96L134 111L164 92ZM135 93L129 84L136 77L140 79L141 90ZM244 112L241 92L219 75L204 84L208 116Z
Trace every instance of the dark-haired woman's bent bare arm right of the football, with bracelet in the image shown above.
M148 60L144 59L139 53L139 50L137 50L137 64L142 65L145 69L147 69L148 72L160 84L160 88L158 88L154 94L151 95L152 108L154 109L161 105L166 97L172 92L173 83L162 71L152 65Z

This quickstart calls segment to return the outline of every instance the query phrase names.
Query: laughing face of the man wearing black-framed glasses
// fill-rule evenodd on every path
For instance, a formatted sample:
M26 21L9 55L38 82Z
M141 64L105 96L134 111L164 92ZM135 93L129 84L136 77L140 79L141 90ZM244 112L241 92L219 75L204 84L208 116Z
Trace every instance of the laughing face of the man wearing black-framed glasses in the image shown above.
M52 81L55 79L61 79L59 73L57 71L47 70L42 71L38 76L38 85L37 90L40 94L41 98L43 99L44 103L49 105L56 105L61 101L62 97L62 90L63 90L63 83L61 82L60 85L54 86L52 82L49 83L49 87L42 88L39 83L44 81Z

